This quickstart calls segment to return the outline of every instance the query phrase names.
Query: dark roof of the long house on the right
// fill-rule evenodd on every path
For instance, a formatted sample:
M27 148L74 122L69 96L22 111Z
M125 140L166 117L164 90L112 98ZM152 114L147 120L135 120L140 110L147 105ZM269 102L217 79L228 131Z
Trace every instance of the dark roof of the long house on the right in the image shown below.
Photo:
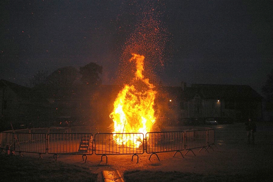
M185 87L184 99L193 98L196 94L204 99L262 99L262 96L248 85L192 84L191 87Z

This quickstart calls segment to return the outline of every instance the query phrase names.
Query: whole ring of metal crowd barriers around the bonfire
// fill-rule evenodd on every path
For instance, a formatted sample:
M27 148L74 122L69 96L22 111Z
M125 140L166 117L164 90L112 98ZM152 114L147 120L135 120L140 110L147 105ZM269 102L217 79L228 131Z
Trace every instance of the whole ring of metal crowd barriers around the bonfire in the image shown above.
M102 128L97 130L102 131ZM107 130L104 127L103 130ZM94 130L92 127L56 127L37 128L27 130L11 130L0 132L0 149L8 154L19 152L38 153L41 157L44 153L54 154L54 159L58 159L58 154L82 155L85 161L87 155L101 155L101 160L107 155L131 154L134 156L143 154L145 151L150 155L161 152L181 153L187 150L184 155L193 149L207 149L214 144L214 130L198 128L199 130L188 131L165 131L149 132L145 137L143 133L92 133L84 131ZM75 133L71 133L74 131ZM41 133L39 133L41 132ZM213 149L212 149L213 150ZM193 153L193 151L192 151ZM193 153L195 155L195 153ZM183 154L181 153L184 158ZM149 158L149 160L150 160Z

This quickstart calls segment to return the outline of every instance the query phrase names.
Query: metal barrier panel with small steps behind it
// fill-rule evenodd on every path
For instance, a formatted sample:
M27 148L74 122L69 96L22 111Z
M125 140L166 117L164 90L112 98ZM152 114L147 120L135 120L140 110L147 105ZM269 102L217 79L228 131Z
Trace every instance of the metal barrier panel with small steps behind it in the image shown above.
M49 133L49 154L93 154L93 134L91 133Z

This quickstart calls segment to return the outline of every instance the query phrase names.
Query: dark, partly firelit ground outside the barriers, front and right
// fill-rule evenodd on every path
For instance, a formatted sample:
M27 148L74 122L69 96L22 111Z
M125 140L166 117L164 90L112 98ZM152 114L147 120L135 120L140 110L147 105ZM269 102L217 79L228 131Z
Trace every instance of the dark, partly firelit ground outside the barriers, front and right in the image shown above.
M215 127L214 151L197 149L181 157L160 153L160 161L150 154L140 155L139 163L130 155L109 155L108 163L100 155L60 155L24 153L24 157L0 154L0 181L96 181L102 182L102 170L119 170L125 182L176 181L272 181L273 123L258 123L255 145L246 144L244 125ZM183 151L185 153L186 151Z

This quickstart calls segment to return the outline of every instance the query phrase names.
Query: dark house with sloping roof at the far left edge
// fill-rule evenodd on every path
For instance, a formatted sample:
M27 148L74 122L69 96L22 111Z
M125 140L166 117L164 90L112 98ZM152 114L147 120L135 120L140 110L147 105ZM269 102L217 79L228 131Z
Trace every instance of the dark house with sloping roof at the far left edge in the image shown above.
M32 88L0 80L0 129L39 126L51 116L48 101ZM29 126L27 126L29 127Z

